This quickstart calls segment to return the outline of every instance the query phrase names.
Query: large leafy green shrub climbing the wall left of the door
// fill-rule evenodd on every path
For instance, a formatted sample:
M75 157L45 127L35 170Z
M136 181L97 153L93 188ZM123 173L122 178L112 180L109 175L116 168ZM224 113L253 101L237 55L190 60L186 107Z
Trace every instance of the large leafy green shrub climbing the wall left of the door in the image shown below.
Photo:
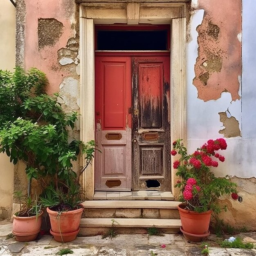
M70 136L79 114L65 113L58 93L45 93L47 83L45 74L36 68L26 72L16 67L13 73L0 70L0 152L13 164L18 160L26 164L28 195L30 181L35 179L40 192L54 190L62 198L80 189L79 176L95 148L94 141L84 144ZM86 164L77 175L72 163L80 153L85 154Z

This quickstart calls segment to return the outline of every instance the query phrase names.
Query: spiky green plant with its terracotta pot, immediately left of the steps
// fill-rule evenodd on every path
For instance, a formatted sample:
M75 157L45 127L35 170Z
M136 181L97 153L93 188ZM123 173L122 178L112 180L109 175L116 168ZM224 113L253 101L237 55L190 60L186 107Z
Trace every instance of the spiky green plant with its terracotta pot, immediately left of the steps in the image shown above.
M47 207L51 222L50 233L57 242L70 242L79 233L79 224L83 213L83 193L79 184L79 176L90 164L94 153L94 141L83 145L85 167L77 176L72 169L66 169L68 176L65 180L54 180L43 192L40 202Z

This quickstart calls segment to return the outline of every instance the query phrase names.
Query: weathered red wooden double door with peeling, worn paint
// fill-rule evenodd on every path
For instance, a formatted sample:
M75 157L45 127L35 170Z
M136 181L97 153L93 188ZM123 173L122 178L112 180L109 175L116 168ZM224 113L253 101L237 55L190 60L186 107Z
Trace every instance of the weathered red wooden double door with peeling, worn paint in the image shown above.
M170 56L95 56L95 190L171 190Z

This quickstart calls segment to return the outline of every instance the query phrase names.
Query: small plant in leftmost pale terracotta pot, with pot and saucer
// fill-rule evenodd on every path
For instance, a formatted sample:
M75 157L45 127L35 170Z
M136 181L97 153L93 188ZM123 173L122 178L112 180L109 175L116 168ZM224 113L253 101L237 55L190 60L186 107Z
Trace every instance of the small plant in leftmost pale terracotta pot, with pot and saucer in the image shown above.
M16 191L14 197L18 199L20 209L13 214L13 234L19 242L35 240L42 224L41 204L31 197L26 198L21 191Z

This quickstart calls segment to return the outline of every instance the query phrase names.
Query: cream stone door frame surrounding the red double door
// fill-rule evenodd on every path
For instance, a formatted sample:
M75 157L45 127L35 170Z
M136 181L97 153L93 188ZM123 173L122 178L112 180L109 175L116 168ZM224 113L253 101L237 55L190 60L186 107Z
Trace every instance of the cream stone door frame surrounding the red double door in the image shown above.
M188 1L76 1L80 4L80 111L81 140L95 139L94 127L94 24L124 23L171 25L171 143L186 142L186 4ZM137 1L139 2L139 1ZM128 9L127 9L128 8ZM84 166L85 159L81 158ZM175 170L171 170L174 192ZM81 180L85 197L94 195L94 162Z

